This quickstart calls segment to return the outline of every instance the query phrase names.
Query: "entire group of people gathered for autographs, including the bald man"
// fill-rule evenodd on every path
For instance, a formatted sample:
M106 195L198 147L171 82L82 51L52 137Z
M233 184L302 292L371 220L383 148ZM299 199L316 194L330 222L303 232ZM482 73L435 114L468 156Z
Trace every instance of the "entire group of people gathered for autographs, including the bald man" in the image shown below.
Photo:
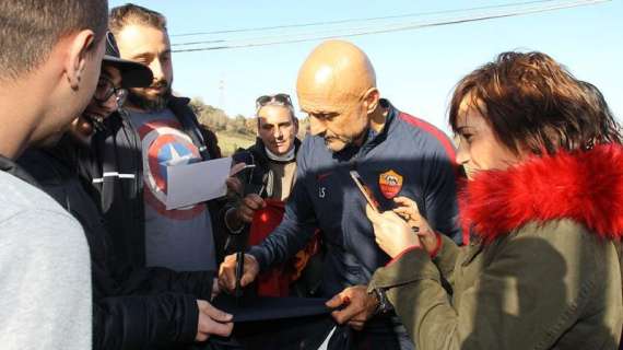
M0 13L2 349L619 349L621 127L550 56L461 79L452 142L381 97L361 48L324 42L298 108L255 102L227 195L168 209L167 168L221 152L173 94L166 18L106 0ZM327 313L234 324L214 303L240 287Z

